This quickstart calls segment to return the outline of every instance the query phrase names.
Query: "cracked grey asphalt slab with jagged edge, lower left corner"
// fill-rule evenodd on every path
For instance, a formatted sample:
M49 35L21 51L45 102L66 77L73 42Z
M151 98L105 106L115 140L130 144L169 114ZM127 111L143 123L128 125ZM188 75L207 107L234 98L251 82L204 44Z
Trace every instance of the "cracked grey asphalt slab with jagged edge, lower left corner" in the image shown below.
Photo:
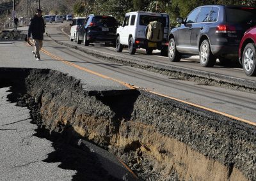
M8 90L0 89L0 180L72 180L76 171L44 161L54 151L51 141L34 136L28 108L8 102Z

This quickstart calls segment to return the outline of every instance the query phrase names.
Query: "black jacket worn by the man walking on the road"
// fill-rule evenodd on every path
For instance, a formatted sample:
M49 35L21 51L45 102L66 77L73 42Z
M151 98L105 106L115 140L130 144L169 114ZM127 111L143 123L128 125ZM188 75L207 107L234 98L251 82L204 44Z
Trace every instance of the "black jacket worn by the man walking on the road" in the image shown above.
M29 28L28 28L28 37L31 36L33 39L37 40L44 40L44 18L38 17L35 15L30 22Z

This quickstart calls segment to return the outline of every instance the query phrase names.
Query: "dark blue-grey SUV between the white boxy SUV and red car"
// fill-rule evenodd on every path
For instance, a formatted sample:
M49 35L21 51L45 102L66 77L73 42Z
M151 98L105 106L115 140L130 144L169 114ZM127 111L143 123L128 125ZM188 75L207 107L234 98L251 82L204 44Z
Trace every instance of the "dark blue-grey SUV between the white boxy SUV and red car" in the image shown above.
M180 61L182 54L200 55L200 64L214 66L238 58L239 42L244 32L256 25L256 8L250 6L207 5L195 8L188 17L177 18L181 25L168 37L170 61Z

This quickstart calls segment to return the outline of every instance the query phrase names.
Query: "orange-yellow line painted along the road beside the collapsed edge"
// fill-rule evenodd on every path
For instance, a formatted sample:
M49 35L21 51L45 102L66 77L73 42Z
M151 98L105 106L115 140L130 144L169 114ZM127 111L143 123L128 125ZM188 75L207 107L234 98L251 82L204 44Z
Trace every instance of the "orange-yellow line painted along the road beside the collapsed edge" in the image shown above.
M100 76L100 77L102 77L102 78L106 78L106 79L113 80L113 81L115 81L115 82L121 83L122 85L125 85L125 86L128 87L129 89L139 89L138 87L136 87L136 86L134 86L134 85L130 85L129 83L122 82L122 81L120 81L120 80L117 80L117 79L115 79L115 78L111 78L111 77L106 76L106 75L102 75L102 74L97 73L97 72L95 72L95 71L91 71L90 69L83 68L83 67L78 66L77 64L74 64L74 63L72 63L72 62L65 61L65 60L61 59L60 57L57 57L56 55L52 55L50 52L47 52L46 50L44 50L44 48L42 48L41 50L42 50L42 52L44 52L45 54L49 55L50 57L52 57L52 58L54 58L54 59L56 59L56 60L58 60L58 61L61 61L61 62L65 63L65 64L67 64L67 65L73 66L74 68L81 69L81 70L86 71L86 72L88 72L88 73L92 73L93 75L97 75L97 76ZM173 99L173 100L179 101L179 102L181 102L181 103L185 103L185 104L188 104L188 105L191 105L191 106L195 106L196 108L202 108L202 109L207 110L207 111L209 111L209 112L218 113L218 114L220 114L220 115L224 115L224 116L229 117L229 118L231 118L231 119L239 120L239 121L241 121L241 122L245 122L245 123L247 123L247 124L251 124L251 125L253 125L253 126L256 126L256 123L255 123L255 122L252 122L252 121L250 121L250 120L246 120L246 119L242 119L242 118L239 118L239 117L235 117L235 116L233 116L233 115L229 115L229 114L227 114L227 113L223 113L223 112L220 112L220 111L218 111L218 110L213 110L213 109L207 108L207 107L205 107L205 106L196 105L196 104L194 104L194 103L189 103L188 101L184 101L184 100L181 100L181 99L177 99L177 98L173 98L173 97L170 97L170 96L166 96L166 95L164 95L164 94L160 94L160 93L158 93L158 92L154 92L154 91L151 91L151 90L149 90L149 89L145 89L145 91L150 92L150 93L152 93L152 94L156 94L156 95L158 95L158 96L162 96L162 97L164 97L164 98Z

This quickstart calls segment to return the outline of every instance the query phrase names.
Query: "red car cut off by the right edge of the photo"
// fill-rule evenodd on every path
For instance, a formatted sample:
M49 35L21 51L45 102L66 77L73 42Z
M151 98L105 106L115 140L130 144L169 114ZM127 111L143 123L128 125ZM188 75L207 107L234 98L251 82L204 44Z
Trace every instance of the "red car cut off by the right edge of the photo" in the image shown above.
M256 26L248 29L239 45L239 62L246 75L256 75Z

